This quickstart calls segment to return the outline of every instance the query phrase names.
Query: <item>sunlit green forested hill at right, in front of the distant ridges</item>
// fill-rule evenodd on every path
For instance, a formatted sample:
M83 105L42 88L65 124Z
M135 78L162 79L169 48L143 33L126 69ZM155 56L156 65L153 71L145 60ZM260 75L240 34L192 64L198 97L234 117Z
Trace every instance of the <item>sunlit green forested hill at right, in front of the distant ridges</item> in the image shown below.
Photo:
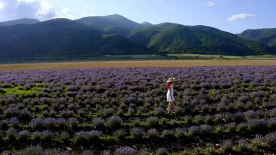
M255 41L203 25L142 29L132 32L128 38L152 50L168 53L254 55L271 52L267 46Z

